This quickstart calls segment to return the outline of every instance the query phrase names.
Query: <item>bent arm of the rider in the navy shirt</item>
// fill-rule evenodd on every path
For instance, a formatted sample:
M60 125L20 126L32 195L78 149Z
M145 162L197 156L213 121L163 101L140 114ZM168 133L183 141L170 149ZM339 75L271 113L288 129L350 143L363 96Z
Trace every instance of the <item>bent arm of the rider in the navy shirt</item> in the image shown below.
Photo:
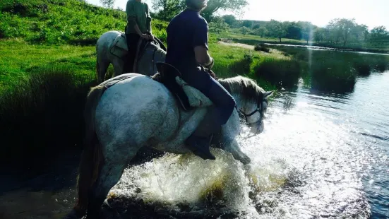
M195 57L198 64L209 66L213 64L213 58L208 54L208 24L205 20L198 23L193 31L193 42Z

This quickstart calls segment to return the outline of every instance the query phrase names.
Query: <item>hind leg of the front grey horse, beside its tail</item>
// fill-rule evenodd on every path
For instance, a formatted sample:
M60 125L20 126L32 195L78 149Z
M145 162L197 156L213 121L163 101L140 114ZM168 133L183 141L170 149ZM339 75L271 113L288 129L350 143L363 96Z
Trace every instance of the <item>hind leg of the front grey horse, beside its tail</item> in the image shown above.
M107 194L119 182L128 162L136 155L138 149L131 146L110 145L104 153L104 165L99 177L89 194L87 218L99 218L101 206Z

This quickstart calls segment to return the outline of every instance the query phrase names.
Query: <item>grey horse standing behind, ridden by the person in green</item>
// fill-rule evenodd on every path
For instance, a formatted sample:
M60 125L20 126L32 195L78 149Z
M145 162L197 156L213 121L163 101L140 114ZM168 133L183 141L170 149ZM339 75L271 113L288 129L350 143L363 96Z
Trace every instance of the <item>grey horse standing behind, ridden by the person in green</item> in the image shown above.
M100 36L99 40L97 40L96 73L98 83L102 83L104 81L109 64L114 66L114 74L112 77L119 76L122 73L129 73L124 72L125 60L122 59L122 56L126 54L127 43L124 38L118 38L121 34L122 32L110 30L108 32L104 32L104 34ZM140 73L145 76L152 76L157 73L156 63L158 61L163 62L166 57L166 52L164 52L164 50L160 47L160 45L157 45L156 42L149 42L146 44L145 48L141 48L139 54L140 56L136 57L137 62L135 63L137 67L136 73Z

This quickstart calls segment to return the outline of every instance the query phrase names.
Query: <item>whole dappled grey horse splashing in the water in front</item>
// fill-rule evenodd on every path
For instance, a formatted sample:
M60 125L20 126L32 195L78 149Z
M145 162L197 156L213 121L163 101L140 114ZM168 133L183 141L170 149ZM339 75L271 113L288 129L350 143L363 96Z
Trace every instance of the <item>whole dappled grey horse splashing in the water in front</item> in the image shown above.
M114 85L107 85L118 78ZM232 153L234 159L247 164L251 160L241 151L236 139L239 112L254 131L262 131L263 113L273 91L265 92L253 80L241 76L219 79L219 82L236 100L237 110L222 126L212 146ZM109 190L143 146L168 153L191 153L184 141L209 107L213 107L200 91L193 90L198 92L196 97L203 105L191 110L184 110L164 84L138 73L122 74L90 90L84 112L86 131L78 175L78 203L67 218L80 217L87 210L87 218L98 218Z

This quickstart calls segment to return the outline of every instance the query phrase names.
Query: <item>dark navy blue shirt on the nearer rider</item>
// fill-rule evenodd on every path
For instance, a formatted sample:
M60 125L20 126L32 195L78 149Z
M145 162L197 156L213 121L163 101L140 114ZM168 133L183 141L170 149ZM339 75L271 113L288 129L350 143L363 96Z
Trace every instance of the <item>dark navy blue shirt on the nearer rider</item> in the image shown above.
M198 71L200 66L194 47L208 49L208 23L198 11L186 9L175 16L167 26L167 54L165 61L175 66L183 77Z

